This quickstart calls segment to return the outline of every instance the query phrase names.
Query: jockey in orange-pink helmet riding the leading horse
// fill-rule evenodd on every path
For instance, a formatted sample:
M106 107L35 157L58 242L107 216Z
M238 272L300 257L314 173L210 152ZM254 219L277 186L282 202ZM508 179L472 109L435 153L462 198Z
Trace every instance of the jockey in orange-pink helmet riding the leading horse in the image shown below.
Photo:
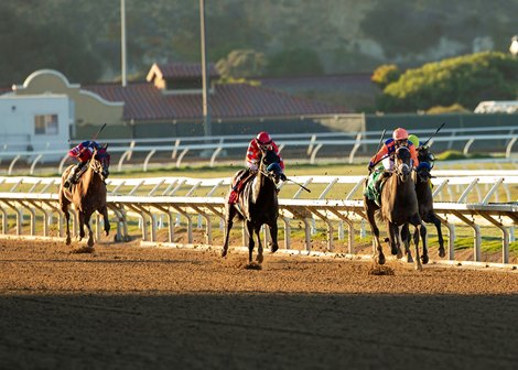
M419 164L416 146L412 141L409 140L409 134L407 130L398 128L393 130L392 138L387 139L384 143L384 146L381 146L378 153L376 153L376 155L370 159L368 166L369 172L373 171L374 166L380 161L382 161L385 170L392 170L395 163L393 155L396 153L396 150L400 146L407 146L409 149L411 163L413 168L416 168ZM379 178L376 181L375 188L378 192L380 189L382 181L386 179L388 176L389 173L384 172L381 176L379 176Z

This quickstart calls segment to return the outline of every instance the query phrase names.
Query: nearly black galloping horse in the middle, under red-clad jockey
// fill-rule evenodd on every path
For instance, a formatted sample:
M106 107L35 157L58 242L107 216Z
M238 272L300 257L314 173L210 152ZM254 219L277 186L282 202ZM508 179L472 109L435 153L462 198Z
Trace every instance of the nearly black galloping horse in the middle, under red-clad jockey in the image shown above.
M225 241L223 246L222 257L227 255L228 238L233 227L234 217L237 215L240 219L245 219L248 230L248 262L252 262L252 252L255 247L253 233L257 236L258 254L256 261L260 264L263 261L262 243L259 231L262 225L270 227L271 235L271 252L279 249L277 243L277 218L279 217L279 203L277 198L277 186L281 167L279 156L276 152L267 150L262 153L259 161L259 170L257 175L249 179L239 195L236 204L227 204L225 206ZM244 171L244 170L241 170ZM239 175L236 173L234 179Z

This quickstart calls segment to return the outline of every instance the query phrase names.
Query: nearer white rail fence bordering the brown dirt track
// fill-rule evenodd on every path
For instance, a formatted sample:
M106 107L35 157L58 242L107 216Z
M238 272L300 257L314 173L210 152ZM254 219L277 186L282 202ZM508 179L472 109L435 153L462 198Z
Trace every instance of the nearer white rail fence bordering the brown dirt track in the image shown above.
M518 171L435 171L434 175L435 211L449 236L447 260L455 261L457 228L467 226L473 229L472 262L482 263L483 231L489 227L501 236L500 263L509 264L509 242L515 240L518 220L518 203L511 199L511 187L518 186ZM299 252L315 252L312 239L320 227L319 232L326 235L324 252L354 255L357 237L366 236L361 200L365 177L299 176L292 179L312 188L313 197L309 198L307 193L292 183L281 187L279 221L284 231L284 249L292 249L292 226L296 222L304 230L304 249ZM0 192L1 235L63 238L58 184L57 177L0 177L4 189ZM187 243L194 242L193 229L201 228L205 235L202 243L213 244L213 228L223 228L224 195L229 178L111 178L107 185L110 221L117 226L117 241L131 239L128 231L131 221L138 224L142 241L157 244L173 243L179 227L186 229ZM73 230L77 233L74 211L73 220ZM101 219L97 217L97 238L102 229L99 224ZM159 241L158 231L162 228L168 230L168 236L166 240ZM435 231L430 225L428 230L429 233ZM268 232L265 237L268 239ZM337 250L336 240L343 241L346 249Z

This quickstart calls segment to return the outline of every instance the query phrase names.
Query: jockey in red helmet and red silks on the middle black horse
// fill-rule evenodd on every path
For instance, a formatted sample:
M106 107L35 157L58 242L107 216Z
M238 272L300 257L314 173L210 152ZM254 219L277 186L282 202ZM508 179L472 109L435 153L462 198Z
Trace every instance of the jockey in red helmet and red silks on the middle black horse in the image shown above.
M234 182L233 189L228 196L228 203L235 204L237 202L239 191L241 189L242 185L251 177L251 175L256 174L259 170L259 159L261 153L266 150L272 150L279 155L279 165L282 171L284 171L284 161L279 154L279 146L277 146L276 142L271 139L270 134L266 131L261 131L253 138L250 143L248 144L247 155L246 155L246 168L236 177ZM280 178L285 181L287 177L283 172L280 174Z

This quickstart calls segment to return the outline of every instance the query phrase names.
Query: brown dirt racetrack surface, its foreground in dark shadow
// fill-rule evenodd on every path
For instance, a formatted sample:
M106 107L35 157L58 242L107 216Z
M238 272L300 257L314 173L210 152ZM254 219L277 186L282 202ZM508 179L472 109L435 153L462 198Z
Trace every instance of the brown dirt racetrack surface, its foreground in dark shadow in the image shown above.
M0 240L1 369L516 369L518 273Z

